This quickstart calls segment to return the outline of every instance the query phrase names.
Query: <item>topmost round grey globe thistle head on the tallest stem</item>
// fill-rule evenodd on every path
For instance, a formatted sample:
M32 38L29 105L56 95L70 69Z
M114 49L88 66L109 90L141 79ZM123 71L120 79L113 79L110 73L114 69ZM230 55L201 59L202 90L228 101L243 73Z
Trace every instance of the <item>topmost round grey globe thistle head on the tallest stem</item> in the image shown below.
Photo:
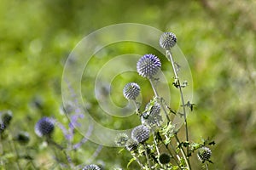
M170 49L173 46L175 46L177 42L177 38L175 36L175 34L173 34L172 32L165 32L160 36L160 47L161 48L165 48L165 49Z

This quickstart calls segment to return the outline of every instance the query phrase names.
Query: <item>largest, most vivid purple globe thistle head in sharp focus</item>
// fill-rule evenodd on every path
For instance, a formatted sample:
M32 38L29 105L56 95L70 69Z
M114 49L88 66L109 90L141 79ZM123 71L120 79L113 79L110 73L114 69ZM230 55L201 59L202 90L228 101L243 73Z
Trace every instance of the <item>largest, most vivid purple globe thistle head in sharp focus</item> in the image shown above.
M137 72L140 76L151 79L161 68L160 59L154 54L145 54L137 61Z

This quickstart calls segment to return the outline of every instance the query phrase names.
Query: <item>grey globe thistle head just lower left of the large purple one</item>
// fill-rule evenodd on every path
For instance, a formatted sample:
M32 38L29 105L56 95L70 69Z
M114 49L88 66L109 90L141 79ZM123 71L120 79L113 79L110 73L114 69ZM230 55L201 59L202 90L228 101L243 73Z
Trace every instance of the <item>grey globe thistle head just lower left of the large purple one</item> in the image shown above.
M136 99L140 92L141 88L135 82L127 83L123 89L125 99Z

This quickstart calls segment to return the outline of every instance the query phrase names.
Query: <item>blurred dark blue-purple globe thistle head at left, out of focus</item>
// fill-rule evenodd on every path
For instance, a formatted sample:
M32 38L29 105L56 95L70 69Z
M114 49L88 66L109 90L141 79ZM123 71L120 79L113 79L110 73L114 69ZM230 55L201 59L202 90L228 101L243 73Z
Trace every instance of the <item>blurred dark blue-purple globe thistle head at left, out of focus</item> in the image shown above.
M49 117L43 117L37 122L35 126L35 133L39 137L49 136L51 133L53 133L54 128L55 125L53 120Z

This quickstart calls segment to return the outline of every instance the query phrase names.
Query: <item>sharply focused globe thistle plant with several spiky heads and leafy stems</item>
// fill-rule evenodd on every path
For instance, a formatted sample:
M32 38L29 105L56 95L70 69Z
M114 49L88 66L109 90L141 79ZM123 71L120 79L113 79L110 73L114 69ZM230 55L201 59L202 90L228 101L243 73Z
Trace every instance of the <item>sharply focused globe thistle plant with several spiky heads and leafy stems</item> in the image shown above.
M118 146L125 145L126 150L131 153L131 161L137 161L141 169L188 169L191 170L189 158L195 151L201 163L210 161L212 151L207 145L213 145L214 142L205 140L203 143L194 143L189 141L189 129L187 122L186 107L193 111L194 104L185 101L183 97L183 88L188 84L187 81L181 83L176 68L177 63L172 57L172 48L177 43L177 37L172 32L165 32L160 36L160 47L166 50L166 58L172 65L174 74L173 86L179 91L182 112L174 111L170 105L166 104L166 100L160 96L156 85L159 81L158 73L161 70L161 61L154 54L145 54L137 61L137 73L139 76L148 79L154 96L145 106L143 111L140 105L137 105L136 98L140 93L140 87L136 82L129 82L125 85L123 94L125 99L134 101L137 109L137 116L141 119L142 124L134 127L131 131L131 139L127 139L127 134L119 134L115 140ZM166 119L162 117L162 112ZM176 125L172 123L170 117L172 114L183 116L184 122L184 141L179 139ZM208 168L208 167L207 167Z

